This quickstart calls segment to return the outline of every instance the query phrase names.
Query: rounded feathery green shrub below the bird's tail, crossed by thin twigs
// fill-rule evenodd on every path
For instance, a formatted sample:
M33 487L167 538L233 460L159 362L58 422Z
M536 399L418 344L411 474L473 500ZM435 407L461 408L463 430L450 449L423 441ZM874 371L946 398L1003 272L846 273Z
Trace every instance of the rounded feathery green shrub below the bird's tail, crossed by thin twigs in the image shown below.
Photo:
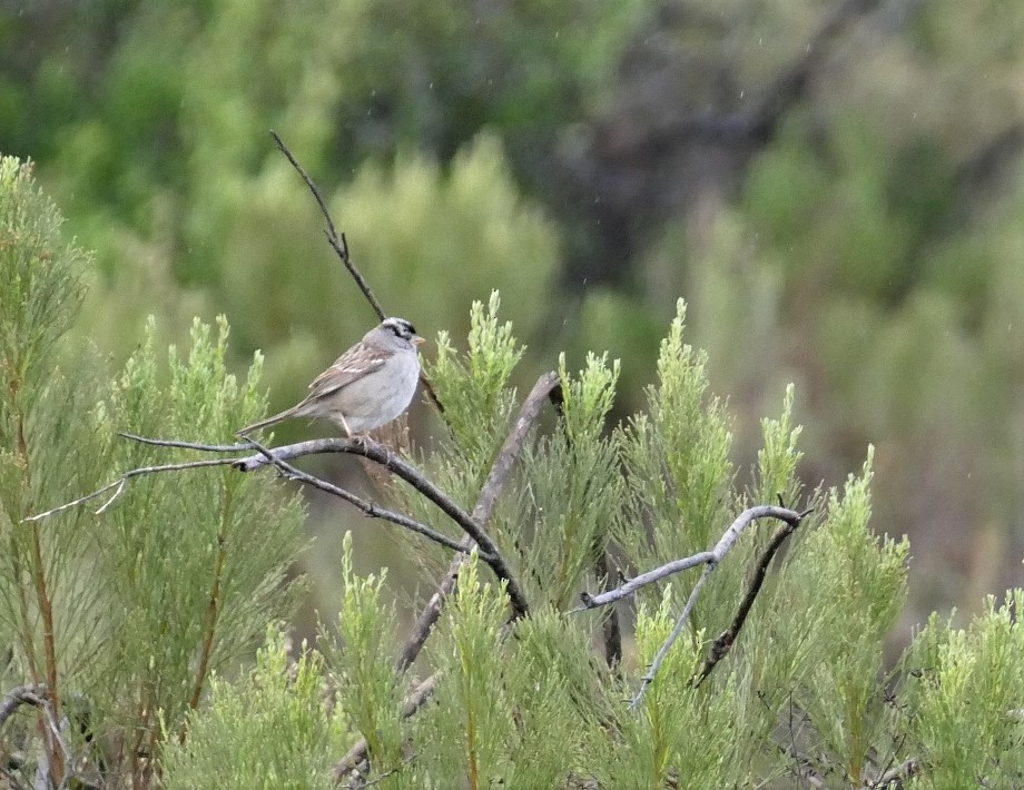
M118 431L229 442L260 414L259 357L239 385L225 367L226 322L216 339L210 334L197 320L187 359L171 348L164 374L150 322L104 406L101 434L110 442ZM112 468L186 458L124 441L110 452ZM136 481L96 527L108 594L118 602L108 699L119 718L135 719L139 738L159 738L156 711L165 728L180 725L205 673L247 654L266 623L289 616L297 603L286 574L301 545L299 500L230 466L184 474Z

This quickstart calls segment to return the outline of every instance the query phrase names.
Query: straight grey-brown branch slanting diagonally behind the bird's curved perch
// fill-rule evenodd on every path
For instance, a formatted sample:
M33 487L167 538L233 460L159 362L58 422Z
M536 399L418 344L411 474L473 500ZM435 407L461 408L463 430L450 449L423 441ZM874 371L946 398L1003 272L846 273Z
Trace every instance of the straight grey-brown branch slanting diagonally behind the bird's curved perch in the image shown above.
M512 426L512 431L498 452L498 456L491 465L491 472L488 474L488 480L480 490L476 506L473 508L473 519L480 524L486 524L491 520L494 507L498 504L498 497L504 487L505 481L509 478L509 474L512 472L515 458L519 457L519 453L522 450L523 443L526 441L530 429L540 416L541 409L544 406L544 399L548 398L552 392L559 391L558 383L559 377L557 373L545 373L536 379L533 389L530 391L526 399L523 401L522 408L520 408L519 416L515 419L515 425ZM469 537L463 541L463 545L472 545ZM416 656L420 655L420 651L423 649L437 619L441 616L445 601L455 590L455 584L459 581L459 573L462 571L464 562L462 557L455 557L452 561L444 579L441 580L434 594L431 595L423 611L420 612L420 616L416 618L416 622L408 638L405 640L405 645L402 648L402 652L395 661L395 672L398 674L404 673L416 660ZM435 677L432 677L429 680L434 680L434 678ZM425 699L426 697L424 695L423 700ZM406 710L408 710L407 715L412 715L415 708L410 710L408 707L406 707ZM360 739L360 741L348 750L348 753L338 761L334 769L334 776L337 781L341 781L342 777L354 770L356 766L366 759L366 740Z

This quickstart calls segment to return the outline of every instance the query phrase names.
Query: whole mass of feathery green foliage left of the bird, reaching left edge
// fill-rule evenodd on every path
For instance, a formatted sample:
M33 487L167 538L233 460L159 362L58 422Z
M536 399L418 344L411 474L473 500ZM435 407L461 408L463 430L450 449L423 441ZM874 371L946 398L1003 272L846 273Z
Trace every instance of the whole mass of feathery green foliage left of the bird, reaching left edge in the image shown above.
M233 669L268 621L294 612L299 587L286 572L303 508L230 466L116 485L129 468L185 460L118 432L228 441L264 408L260 363L239 385L226 369L227 323L214 340L197 320L187 358L171 349L165 367L150 322L124 374L105 381L107 363L62 336L81 304L87 256L60 240L60 223L30 168L0 161L7 679L45 684L56 721L72 723L69 748L102 763L109 781L142 782L210 673ZM105 484L104 498L27 520ZM38 782L59 784L78 767L39 717L42 739L16 781L36 771Z

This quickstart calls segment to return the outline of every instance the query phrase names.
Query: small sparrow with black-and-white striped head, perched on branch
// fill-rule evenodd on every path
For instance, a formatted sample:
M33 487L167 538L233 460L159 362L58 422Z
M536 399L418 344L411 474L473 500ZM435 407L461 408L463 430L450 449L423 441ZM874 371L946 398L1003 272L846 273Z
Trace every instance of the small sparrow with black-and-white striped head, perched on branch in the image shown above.
M309 385L309 394L238 435L292 417L324 417L348 435L373 431L408 408L420 381L416 346L423 338L404 318L385 318Z

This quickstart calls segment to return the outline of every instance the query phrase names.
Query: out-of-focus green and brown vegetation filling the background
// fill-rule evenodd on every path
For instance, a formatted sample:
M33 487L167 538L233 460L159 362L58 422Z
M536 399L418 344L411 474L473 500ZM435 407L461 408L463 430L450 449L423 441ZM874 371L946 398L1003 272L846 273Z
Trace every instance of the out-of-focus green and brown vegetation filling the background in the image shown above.
M912 539L907 625L1021 583L1024 3L0 6L0 151L37 162L96 251L79 332L121 362L147 314L175 342L224 313L236 369L266 352L276 409L374 316L270 128L421 334L464 336L498 288L521 384L608 349L622 417L682 296L740 468L788 382L805 481L877 446L875 529ZM313 512L339 540L337 505Z

